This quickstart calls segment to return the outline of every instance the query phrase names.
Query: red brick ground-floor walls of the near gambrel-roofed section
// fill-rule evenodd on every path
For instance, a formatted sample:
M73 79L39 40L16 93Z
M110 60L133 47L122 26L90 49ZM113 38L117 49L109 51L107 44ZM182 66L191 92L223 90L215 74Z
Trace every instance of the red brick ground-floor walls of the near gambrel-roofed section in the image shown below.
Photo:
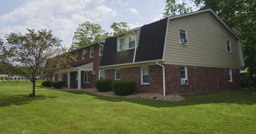
M181 84L180 65L165 64L165 94L183 94L240 89L239 69L232 69L232 82L228 82L228 69L218 67L187 66L188 85ZM163 93L162 67L148 66L149 84L141 84L141 67L120 69L120 79L133 80L135 92ZM105 78L115 79L115 70L105 70Z

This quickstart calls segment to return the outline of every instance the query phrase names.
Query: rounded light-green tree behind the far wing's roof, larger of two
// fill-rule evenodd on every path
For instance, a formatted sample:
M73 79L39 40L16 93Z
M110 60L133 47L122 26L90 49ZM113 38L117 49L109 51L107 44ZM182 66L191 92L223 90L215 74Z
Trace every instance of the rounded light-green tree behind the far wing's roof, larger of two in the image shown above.
M69 50L106 38L105 30L102 30L101 25L99 24L86 21L78 26L79 27L76 29L71 48Z

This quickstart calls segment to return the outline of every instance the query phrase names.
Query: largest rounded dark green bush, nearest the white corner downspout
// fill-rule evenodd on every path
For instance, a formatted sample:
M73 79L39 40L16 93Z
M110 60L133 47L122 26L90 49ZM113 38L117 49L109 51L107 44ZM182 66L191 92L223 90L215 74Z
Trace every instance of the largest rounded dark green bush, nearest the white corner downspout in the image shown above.
M111 83L112 90L118 95L131 95L135 88L135 82L131 80L115 80Z

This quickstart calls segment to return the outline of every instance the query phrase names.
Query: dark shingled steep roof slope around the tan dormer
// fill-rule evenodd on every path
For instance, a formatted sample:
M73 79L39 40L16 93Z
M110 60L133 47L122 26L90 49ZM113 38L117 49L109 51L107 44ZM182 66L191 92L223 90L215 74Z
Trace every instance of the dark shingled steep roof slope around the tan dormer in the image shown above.
M141 27L135 62L163 58L168 18ZM117 37L105 41L100 66L132 63L134 49L117 52Z

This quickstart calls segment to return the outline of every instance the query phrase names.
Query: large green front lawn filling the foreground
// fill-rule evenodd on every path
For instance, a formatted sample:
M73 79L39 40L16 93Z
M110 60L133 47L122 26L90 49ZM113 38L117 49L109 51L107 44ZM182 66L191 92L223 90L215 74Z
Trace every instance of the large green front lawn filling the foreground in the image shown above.
M0 92L0 133L256 133L256 89L183 95L184 101L84 91Z

